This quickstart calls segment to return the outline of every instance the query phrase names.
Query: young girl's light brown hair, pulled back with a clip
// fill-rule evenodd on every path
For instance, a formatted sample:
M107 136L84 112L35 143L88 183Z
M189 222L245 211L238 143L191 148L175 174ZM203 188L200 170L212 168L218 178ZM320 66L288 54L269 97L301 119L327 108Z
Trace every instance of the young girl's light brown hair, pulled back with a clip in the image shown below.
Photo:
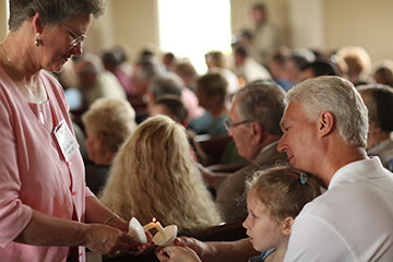
M306 176L306 182L301 182L300 171L289 166L259 170L247 182L248 194L263 204L277 223L286 217L295 218L308 202L321 194L318 182Z

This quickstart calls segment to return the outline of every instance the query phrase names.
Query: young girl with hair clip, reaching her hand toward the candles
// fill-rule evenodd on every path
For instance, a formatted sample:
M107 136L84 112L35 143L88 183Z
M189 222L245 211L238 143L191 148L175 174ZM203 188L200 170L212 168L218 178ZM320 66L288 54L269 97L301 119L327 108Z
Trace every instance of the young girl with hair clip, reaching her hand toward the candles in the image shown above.
M282 166L257 171L248 188L248 216L242 225L253 248L261 251L249 261L283 261L294 219L321 194L320 186L306 174ZM188 247L168 246L163 251L171 262L201 261Z

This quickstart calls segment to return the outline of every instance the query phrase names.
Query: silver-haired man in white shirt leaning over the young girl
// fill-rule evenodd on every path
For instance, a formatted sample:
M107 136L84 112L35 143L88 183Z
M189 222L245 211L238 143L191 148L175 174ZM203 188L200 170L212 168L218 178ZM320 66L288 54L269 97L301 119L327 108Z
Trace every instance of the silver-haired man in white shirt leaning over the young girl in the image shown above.
M327 188L295 219L285 261L393 261L393 175L367 157L367 108L354 85L299 83L281 127L277 150Z

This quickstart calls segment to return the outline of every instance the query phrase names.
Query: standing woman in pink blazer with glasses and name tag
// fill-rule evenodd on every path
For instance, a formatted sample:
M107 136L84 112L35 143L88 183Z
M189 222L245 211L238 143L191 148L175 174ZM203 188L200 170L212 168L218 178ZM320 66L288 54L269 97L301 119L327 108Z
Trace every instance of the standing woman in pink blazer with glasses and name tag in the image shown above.
M145 248L85 187L62 88L44 71L81 55L102 11L102 0L10 0L0 46L1 261L85 261L84 247Z

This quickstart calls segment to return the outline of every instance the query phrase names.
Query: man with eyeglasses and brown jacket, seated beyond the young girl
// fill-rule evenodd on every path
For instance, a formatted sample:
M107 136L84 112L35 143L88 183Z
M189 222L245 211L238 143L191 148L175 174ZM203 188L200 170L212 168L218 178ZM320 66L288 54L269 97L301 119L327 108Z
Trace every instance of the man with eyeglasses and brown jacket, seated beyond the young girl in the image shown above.
M239 202L239 199L248 176L257 168L285 160L285 155L276 152L282 135L284 96L284 91L270 81L255 81L235 96L225 127L239 155L250 165L228 176L217 188L216 203L227 222L247 216L246 200Z

